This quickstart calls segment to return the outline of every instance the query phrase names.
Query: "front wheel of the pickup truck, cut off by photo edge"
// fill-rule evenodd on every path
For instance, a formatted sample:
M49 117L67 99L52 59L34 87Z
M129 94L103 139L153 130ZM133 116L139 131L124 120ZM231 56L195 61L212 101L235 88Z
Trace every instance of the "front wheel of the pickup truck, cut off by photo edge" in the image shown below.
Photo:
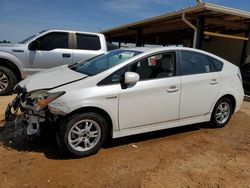
M10 69L0 66L0 96L9 95L17 82L17 77Z

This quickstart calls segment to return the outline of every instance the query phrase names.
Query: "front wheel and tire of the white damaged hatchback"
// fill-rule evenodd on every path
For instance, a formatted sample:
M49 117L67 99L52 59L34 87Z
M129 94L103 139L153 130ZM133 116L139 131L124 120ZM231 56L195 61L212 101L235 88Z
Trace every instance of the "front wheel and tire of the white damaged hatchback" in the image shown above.
M61 121L57 142L62 152L73 157L86 157L98 152L107 140L108 125L97 113L80 113Z

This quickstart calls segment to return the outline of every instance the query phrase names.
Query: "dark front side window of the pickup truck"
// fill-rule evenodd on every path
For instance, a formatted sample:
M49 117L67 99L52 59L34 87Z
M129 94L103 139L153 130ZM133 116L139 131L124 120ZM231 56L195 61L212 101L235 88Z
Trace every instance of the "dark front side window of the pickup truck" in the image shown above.
M38 39L40 42L39 50L50 51L56 48L68 48L68 33L53 32L46 34Z

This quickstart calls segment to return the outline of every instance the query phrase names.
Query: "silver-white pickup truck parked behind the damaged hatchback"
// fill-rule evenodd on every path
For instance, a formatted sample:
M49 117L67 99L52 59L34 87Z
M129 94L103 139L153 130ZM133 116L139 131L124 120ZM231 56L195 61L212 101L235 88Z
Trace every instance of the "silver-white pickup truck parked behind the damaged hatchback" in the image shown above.
M103 34L68 30L46 30L19 43L0 44L0 96L28 75L103 54L109 47Z

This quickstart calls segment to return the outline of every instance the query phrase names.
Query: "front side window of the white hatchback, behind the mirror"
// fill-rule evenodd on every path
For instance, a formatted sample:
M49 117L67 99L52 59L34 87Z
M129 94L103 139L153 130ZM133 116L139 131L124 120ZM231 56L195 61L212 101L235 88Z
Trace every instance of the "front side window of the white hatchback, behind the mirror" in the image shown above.
M175 54L163 53L142 59L131 65L140 80L167 78L175 75Z

